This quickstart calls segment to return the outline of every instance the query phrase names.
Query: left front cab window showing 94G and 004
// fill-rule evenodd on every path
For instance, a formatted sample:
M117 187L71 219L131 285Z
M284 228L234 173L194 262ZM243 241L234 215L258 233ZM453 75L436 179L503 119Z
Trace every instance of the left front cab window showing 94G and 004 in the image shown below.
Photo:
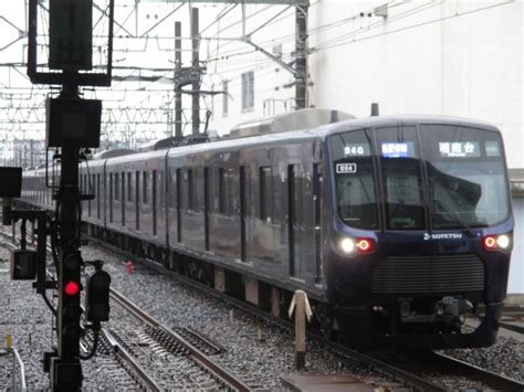
M349 226L378 229L370 130L333 135L329 148L338 216Z

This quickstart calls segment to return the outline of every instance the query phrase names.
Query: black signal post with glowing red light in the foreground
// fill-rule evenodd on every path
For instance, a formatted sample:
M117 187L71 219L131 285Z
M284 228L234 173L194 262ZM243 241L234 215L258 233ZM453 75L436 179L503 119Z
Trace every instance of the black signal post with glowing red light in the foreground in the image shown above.
M102 272L102 263L95 262L97 272L87 280L88 304L86 321L81 325L82 307L81 272L85 264L81 246L81 201L94 195L81 194L78 166L81 150L99 146L102 103L82 99L82 85L109 86L113 52L114 0L109 1L107 72L92 71L92 13L93 0L50 0L50 59L49 68L55 72L36 71L38 0L29 2L28 75L32 83L60 84L62 91L56 98L46 100L46 147L56 149L60 159L60 186L53 189L56 201L55 237L59 248L56 309L57 348L44 356L44 368L50 372L53 391L80 391L82 388L80 339L85 329L92 329L95 341L99 322L108 319L109 276ZM56 72L62 71L62 72ZM46 179L48 183L48 179ZM54 229L54 227L53 227Z

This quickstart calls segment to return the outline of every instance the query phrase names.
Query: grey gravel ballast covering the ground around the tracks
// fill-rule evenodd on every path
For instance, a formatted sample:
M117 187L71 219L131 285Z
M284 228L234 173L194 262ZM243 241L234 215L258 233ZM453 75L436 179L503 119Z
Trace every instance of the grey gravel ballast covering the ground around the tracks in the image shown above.
M306 367L297 372L294 341L289 331L256 320L254 316L170 277L144 269L139 264L135 264L135 272L128 274L127 261L103 247L90 245L83 247L82 254L84 259L104 259L112 286L167 327L191 328L224 347L227 351L214 360L241 375L251 388L284 389L281 377L292 373L352 374L375 386L405 388L369 365L343 358L311 341L307 342ZM29 389L45 389L49 375L43 372L42 358L43 352L51 349L51 311L31 282L10 280L9 252L1 248L0 257L0 338L3 342L7 333L12 335L13 346L25 364ZM524 343L516 339L500 338L491 348L447 350L446 353L510 378L524 379ZM106 363L107 358L103 356L82 362L85 390L124 388L115 379L118 372L109 371ZM0 384L8 385L10 377L11 359L0 357Z

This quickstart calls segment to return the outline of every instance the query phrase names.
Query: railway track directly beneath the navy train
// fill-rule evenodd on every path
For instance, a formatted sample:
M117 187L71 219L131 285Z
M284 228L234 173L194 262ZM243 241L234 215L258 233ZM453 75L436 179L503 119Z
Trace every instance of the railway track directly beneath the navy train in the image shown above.
M264 319L270 324L277 325L287 330L293 330L294 326L286 320L276 319L269 315L268 312L259 309L258 307L239 300L237 298L230 297L224 295L220 292L212 289L211 287L203 285L199 282L190 279L185 276L180 276L171 271L166 269L161 264L144 258L137 257L129 252L120 250L114 245L106 244L101 242L96 239L91 239L90 241L104 246L105 248L115 252L120 255L125 255L128 257L133 257L135 261L144 264L145 266L153 268L159 274L169 275L172 278L177 279L178 282L182 282L186 285L189 285L193 288L199 290L206 292L208 295L224 300L234 305L235 307L248 311L256 316L258 318ZM468 379L471 380L473 383L480 383L481 388L486 389L494 389L494 390L503 390L503 391L524 391L524 383L517 380L513 380L506 378L504 375L491 372L486 369L482 369L470 364L464 361L457 360L450 356L446 356L442 353L438 353L434 351L426 351L423 354L407 354L412 362L423 362L427 367L427 371L416 372L410 370L410 365L398 365L394 363L398 363L395 359L396 353L392 353L394 358L389 358L387 360L384 359L380 353L363 353L355 350L352 350L343 345L337 342L333 342L329 340L324 339L319 333L308 332L308 338L321 342L325 347L328 347L333 351L337 352L343 358L348 358L352 360L357 360L364 363L367 363L375 368L377 371L394 377L399 381L404 381L408 383L410 386L415 388L416 390L431 390L431 391L448 391L450 388L448 384L443 384L440 382L440 379L447 380L448 382L452 382L453 378L459 379ZM399 353L402 354L402 353ZM434 374L429 377L428 374Z

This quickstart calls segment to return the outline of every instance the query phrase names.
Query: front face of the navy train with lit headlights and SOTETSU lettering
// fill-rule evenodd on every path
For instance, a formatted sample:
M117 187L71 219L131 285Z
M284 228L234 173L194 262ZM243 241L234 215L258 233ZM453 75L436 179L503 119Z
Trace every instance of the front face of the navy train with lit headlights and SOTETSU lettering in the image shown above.
M500 133L397 123L332 135L328 156L326 278L347 342L492 345L513 242ZM480 325L464 325L475 314Z

